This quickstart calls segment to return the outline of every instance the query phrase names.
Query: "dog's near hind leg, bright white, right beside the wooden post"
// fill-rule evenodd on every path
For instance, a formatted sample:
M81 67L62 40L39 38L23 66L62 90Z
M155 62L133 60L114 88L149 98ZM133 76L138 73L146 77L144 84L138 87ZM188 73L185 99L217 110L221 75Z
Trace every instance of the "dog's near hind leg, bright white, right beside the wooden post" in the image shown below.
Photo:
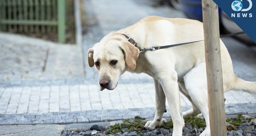
M210 136L210 119L208 109L207 74L205 63L198 64L184 77L184 83L188 95L200 109L206 122L205 130L200 136Z

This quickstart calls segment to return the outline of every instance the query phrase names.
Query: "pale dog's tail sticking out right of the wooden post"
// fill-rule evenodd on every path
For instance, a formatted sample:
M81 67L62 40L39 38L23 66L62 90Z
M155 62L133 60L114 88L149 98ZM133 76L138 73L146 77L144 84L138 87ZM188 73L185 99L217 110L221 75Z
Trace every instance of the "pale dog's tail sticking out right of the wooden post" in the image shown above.
M236 77L232 85L232 90L242 90L256 94L256 82L244 81Z

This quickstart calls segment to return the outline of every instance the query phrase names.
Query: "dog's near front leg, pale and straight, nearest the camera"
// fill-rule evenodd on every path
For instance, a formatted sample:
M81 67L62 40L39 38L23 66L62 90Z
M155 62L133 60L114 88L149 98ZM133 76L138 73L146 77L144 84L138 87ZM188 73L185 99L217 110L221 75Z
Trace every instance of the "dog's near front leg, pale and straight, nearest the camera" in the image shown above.
M177 82L177 73L160 72L156 79L163 87L167 102L169 105L171 118L173 122L173 136L182 136L182 129L184 127L184 119L182 117L179 85Z

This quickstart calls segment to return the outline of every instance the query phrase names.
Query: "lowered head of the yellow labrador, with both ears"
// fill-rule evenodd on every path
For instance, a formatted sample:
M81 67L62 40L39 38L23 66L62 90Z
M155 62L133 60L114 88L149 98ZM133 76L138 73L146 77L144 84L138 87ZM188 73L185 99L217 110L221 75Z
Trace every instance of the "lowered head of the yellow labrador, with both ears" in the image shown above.
M126 70L136 68L139 49L134 47L120 33L110 33L88 50L87 58L90 67L95 65L99 72L100 90L113 90L119 76Z

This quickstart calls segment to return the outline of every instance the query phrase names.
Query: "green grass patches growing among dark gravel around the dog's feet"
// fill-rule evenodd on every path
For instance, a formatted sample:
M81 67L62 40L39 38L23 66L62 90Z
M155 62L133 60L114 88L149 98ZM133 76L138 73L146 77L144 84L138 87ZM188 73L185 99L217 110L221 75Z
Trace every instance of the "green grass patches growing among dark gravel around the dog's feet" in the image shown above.
M256 116L254 118L256 118ZM252 119L253 118L244 119L244 118L242 118L242 114L238 114L237 118L227 118L226 121L234 126L240 126L245 121L250 122ZM142 132L146 131L146 129L143 128L145 123L146 123L146 120L144 118L136 116L133 119L124 119L123 123L118 123L113 126L109 126L109 128L106 131L104 131L104 133L115 134L118 132L124 133L124 132L130 132L130 131L136 130L137 132L139 132L140 135L143 135ZM206 126L204 118L197 117L197 116L189 117L189 118L185 119L185 123L186 124L190 123L193 128L196 125L199 128ZM173 129L173 123L172 123L172 121L165 122L160 126L160 128Z

